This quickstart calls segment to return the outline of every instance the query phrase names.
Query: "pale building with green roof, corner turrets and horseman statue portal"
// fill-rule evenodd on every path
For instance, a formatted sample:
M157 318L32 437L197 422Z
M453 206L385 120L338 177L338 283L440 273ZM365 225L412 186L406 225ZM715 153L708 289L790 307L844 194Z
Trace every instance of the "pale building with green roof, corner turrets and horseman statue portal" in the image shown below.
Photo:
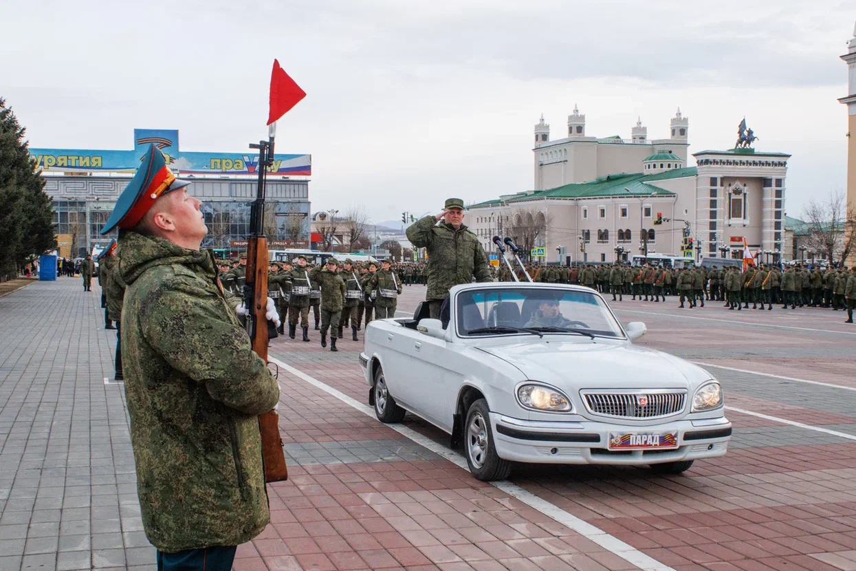
M649 139L641 119L630 132L630 139L587 136L575 105L567 136L550 140L542 116L533 190L469 205L465 223L490 253L493 235L513 235L544 247L540 261L551 263L613 262L645 249L683 255L685 237L698 258L741 258L744 239L770 259L783 253L790 155L740 147L690 159L689 119L680 109L667 137ZM668 221L655 224L657 213Z

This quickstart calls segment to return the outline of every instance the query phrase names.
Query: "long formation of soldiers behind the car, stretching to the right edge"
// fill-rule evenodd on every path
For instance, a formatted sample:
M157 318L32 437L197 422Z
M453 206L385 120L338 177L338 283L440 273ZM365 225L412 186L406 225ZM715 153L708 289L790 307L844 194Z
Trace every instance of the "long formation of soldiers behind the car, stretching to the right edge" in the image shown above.
M735 266L710 270L702 265L672 269L663 265L526 265L535 282L575 283L612 294L613 301L631 300L660 302L667 295L678 298L681 308L704 307L704 301L724 301L730 310L752 309L771 311L774 305L782 309L823 307L834 311L846 310L846 323L853 323L856 304L856 267L846 268L788 266L782 271L776 265L749 266L740 271ZM495 270L500 282L512 282L508 268ZM526 281L522 270L516 272Z

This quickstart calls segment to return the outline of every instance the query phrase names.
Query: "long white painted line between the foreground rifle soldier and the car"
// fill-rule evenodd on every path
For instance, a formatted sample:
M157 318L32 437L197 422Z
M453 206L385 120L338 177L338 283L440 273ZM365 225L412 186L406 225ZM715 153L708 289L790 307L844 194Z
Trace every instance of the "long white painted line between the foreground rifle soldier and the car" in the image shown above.
M293 374L295 377L298 377L308 384L312 384L312 386L317 387L320 390L323 390L330 396L334 396L340 401L347 404L349 407L353 407L359 410L361 413L365 413L367 416L371 416L372 418L376 418L374 413L374 408L366 406L360 401L356 401L350 396L344 394L341 390L336 390L331 387L329 384L324 384L319 381L317 378L310 377L305 372L300 371L300 369L295 369L293 366L287 365L283 363L281 360L275 359L273 357L268 357L268 360L276 363L277 366L282 367L286 371ZM368 385L366 385L366 389ZM366 393L368 391L366 390ZM442 444L438 444L431 440L429 437L425 437L419 432L414 431L412 428L407 428L407 426L401 425L387 425L389 428L398 432L404 437L413 440L413 442L418 443L421 446L424 446L426 449L431 450L434 454L443 456L446 460L452 462L458 467L463 468L464 470L469 471L467 467L467 460L463 455L456 452L453 449L449 449ZM856 437L854 437L856 438ZM558 521L563 526L568 526L570 529L573 529L574 532L579 533L586 539L591 539L591 541L603 547L603 549L614 553L615 555L621 557L627 562L632 563L636 567L640 569L644 569L645 571L675 571L674 568L669 567L668 565L664 565L661 562L658 562L651 556L645 555L641 551L635 549L632 545L626 544L621 541L619 538L615 538L607 532L603 532L599 527L592 526L590 523L587 523L584 520L580 520L580 518L576 517L573 514L569 514L564 509L559 508L555 504L544 500L541 497L536 496L531 491L527 491L524 488L521 488L519 485L513 484L508 480L502 480L501 482L491 482L492 485L496 486L496 488L506 492L509 496L516 497L520 500L520 502L526 503L529 507L533 509L537 509L544 515L552 518L553 520Z

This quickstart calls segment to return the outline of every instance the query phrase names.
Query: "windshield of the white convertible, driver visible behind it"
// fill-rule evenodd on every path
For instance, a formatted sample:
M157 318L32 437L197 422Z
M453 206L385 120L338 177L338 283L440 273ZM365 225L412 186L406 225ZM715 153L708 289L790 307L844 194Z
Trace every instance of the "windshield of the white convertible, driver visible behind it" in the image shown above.
M564 288L490 288L457 296L461 336L524 335L538 331L623 337L621 325L597 294Z

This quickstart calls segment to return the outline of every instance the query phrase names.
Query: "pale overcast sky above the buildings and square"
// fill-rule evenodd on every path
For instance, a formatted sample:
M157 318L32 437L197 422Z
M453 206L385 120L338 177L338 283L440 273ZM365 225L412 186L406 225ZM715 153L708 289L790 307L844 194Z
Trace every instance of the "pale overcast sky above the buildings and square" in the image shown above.
M182 151L245 152L265 136L270 65L307 92L279 152L311 153L312 210L375 222L532 188L532 128L574 104L586 134L734 146L743 116L788 152L787 210L843 189L856 4L597 0L6 0L0 97L31 146L131 149L177 128ZM692 161L691 161L692 163Z

